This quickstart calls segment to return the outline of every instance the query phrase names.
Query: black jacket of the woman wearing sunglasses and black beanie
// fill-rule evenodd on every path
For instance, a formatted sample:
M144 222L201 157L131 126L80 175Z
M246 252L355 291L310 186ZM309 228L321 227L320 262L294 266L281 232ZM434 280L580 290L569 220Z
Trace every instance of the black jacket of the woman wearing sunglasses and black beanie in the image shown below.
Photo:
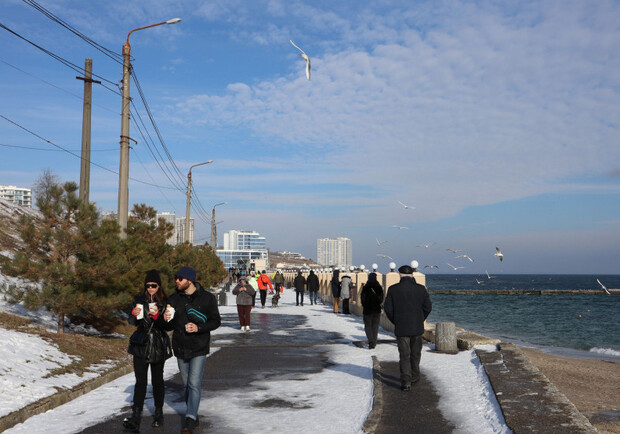
M159 314L157 319L153 319L148 314L149 301L150 300L148 300L144 294L140 294L134 299L131 305L132 310L137 304L142 305L144 317L142 319L137 319L132 314L129 314L128 321L129 324L136 326L136 336L144 335L147 339L144 345L140 345L132 343L132 339L130 338L127 352L134 357L143 359L144 363L161 363L172 356L170 337L165 331L165 321L163 320L165 306L161 303L157 303Z

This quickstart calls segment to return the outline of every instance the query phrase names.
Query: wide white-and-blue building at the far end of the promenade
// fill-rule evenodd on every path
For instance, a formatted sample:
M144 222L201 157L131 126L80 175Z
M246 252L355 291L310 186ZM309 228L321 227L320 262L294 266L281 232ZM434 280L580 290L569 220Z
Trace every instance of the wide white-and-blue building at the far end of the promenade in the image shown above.
M250 267L251 264L259 269L266 268L269 263L267 240L255 231L230 230L224 233L224 248L215 253L227 269Z

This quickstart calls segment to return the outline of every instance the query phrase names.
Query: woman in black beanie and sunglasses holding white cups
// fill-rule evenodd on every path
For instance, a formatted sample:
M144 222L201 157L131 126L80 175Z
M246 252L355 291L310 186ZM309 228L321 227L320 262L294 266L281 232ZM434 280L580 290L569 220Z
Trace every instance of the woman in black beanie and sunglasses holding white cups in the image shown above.
M133 355L136 384L133 388L132 414L123 421L123 426L131 432L140 432L149 367L155 401L151 426L159 427L164 424L164 363L172 356L170 338L164 330L162 315L166 300L159 272L149 270L144 278L144 291L134 299L134 307L129 315L129 323L137 327L129 339L127 350Z

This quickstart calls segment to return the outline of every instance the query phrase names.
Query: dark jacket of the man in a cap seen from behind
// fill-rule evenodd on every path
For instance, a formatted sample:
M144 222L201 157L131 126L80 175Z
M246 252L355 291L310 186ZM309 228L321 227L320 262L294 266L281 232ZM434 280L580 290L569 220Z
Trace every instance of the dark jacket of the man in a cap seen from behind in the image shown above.
M426 288L409 276L402 276L399 283L389 287L383 306L394 323L396 336L421 336L432 307Z

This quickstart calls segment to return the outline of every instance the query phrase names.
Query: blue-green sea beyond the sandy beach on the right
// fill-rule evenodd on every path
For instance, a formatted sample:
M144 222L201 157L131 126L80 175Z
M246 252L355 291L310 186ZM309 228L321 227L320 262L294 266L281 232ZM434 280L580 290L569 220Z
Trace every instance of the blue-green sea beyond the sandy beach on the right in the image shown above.
M579 290L579 294L432 294L431 323L542 351L620 362L620 275L427 274L429 290Z

